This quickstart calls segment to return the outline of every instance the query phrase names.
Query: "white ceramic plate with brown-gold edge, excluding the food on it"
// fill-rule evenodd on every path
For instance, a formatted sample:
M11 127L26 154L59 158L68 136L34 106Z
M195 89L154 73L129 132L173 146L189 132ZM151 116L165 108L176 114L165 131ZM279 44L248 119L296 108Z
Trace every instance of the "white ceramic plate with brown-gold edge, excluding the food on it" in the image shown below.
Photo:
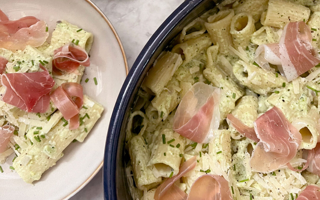
M52 32L56 21L67 20L94 35L91 66L85 69L84 93L100 102L105 110L83 143L71 143L55 166L33 185L10 170L12 158L2 164L0 199L63 199L79 191L102 167L105 140L116 98L128 72L125 53L115 29L89 0L10 0L1 2L10 20L32 15L45 20ZM97 77L98 85L93 82Z

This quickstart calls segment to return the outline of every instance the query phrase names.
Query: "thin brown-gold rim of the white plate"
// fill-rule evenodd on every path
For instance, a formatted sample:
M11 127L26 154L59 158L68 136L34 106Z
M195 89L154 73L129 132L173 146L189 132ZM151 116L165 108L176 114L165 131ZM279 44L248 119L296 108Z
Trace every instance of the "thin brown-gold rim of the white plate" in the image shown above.
M107 24L111 28L112 32L115 34L116 39L119 43L122 55L123 55L124 64L125 64L125 71L126 71L126 74L128 75L128 73L129 73L128 61L125 56L124 48L123 48L122 43L120 41L120 37L118 36L118 34L116 32L116 29L112 26L112 24L108 20L107 16L100 10L100 8L98 8L98 6L96 6L96 4L94 4L91 0L85 0L85 1L88 4L90 4L90 6L92 6L97 12L100 13L101 17L107 22ZM68 196L64 197L63 199L68 199L68 198L72 197L73 195L75 195L79 190L81 190L99 172L99 170L102 168L102 165L103 165L103 160L102 160L101 164L98 166L98 168L88 177L87 180L85 180L79 187L77 187L73 192L71 192Z

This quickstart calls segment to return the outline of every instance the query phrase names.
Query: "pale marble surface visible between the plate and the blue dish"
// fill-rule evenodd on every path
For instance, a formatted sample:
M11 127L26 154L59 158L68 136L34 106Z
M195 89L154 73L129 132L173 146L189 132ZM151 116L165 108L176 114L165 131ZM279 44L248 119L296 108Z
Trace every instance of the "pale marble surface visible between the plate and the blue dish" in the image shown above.
M106 14L120 36L129 68L156 29L183 1L92 0ZM70 199L103 199L102 170Z

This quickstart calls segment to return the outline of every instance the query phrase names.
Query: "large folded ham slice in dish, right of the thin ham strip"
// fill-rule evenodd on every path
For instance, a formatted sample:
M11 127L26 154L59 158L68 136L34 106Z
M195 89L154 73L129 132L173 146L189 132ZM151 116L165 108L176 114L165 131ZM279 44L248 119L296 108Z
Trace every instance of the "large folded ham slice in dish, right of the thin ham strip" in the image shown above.
M289 163L302 140L300 132L277 107L261 115L254 122L254 130L260 141L253 149L250 165L256 172L273 172Z

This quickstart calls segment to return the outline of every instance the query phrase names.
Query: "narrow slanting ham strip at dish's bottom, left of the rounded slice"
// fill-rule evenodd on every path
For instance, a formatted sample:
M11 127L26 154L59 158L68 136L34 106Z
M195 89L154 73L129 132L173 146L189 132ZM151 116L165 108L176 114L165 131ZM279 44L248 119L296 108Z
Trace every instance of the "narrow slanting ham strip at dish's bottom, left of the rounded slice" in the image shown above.
M180 188L173 186L174 189L172 189L172 185L174 185L174 183L177 180L179 180L184 174L194 169L196 167L196 164L197 164L196 156L193 156L192 158L184 162L180 166L179 173L177 175L172 176L171 178L165 180L160 186L158 186L154 195L154 199L155 200L173 199L169 197L177 197L177 199L181 199L181 196L183 197L183 199L185 199L186 196L183 196L183 194L180 192L181 191Z

